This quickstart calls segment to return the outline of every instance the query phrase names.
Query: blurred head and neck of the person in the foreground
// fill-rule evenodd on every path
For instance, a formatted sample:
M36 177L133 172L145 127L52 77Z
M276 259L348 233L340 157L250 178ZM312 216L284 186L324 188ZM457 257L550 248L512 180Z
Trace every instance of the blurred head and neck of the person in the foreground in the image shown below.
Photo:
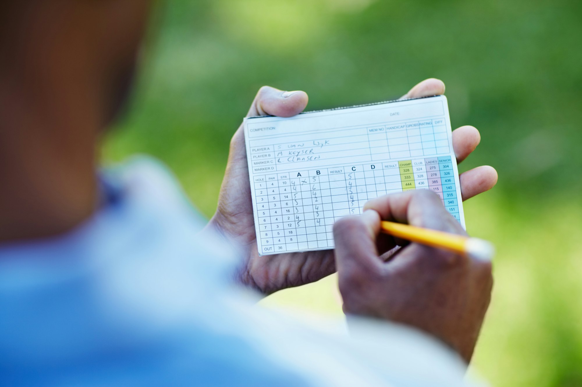
M0 1L0 240L58 235L97 208L99 134L126 102L149 6Z

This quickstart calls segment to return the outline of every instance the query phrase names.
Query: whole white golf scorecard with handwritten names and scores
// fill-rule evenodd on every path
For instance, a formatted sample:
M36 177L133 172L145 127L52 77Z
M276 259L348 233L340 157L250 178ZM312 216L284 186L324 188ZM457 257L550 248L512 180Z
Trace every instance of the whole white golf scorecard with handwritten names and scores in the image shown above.
M244 120L258 252L333 249L369 199L431 189L463 225L445 96Z

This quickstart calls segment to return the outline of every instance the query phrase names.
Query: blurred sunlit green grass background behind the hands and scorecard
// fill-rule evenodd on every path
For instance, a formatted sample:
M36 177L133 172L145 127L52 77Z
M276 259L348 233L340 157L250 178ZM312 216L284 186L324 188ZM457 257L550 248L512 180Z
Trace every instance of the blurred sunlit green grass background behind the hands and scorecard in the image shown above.
M453 126L482 136L460 170L499 171L465 204L499 250L474 366L497 386L582 385L582 2L175 0L154 19L104 159L158 157L207 216L261 85L303 89L313 110L445 81ZM341 315L334 277L262 304Z

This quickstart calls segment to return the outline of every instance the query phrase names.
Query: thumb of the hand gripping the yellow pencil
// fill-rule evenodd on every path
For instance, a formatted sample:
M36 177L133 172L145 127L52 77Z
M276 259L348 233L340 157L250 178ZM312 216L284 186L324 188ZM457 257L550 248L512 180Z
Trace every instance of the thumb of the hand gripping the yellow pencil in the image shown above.
M367 210L361 216L341 218L333 225L336 268L340 281L370 278L382 270L376 237L380 232L380 216Z

